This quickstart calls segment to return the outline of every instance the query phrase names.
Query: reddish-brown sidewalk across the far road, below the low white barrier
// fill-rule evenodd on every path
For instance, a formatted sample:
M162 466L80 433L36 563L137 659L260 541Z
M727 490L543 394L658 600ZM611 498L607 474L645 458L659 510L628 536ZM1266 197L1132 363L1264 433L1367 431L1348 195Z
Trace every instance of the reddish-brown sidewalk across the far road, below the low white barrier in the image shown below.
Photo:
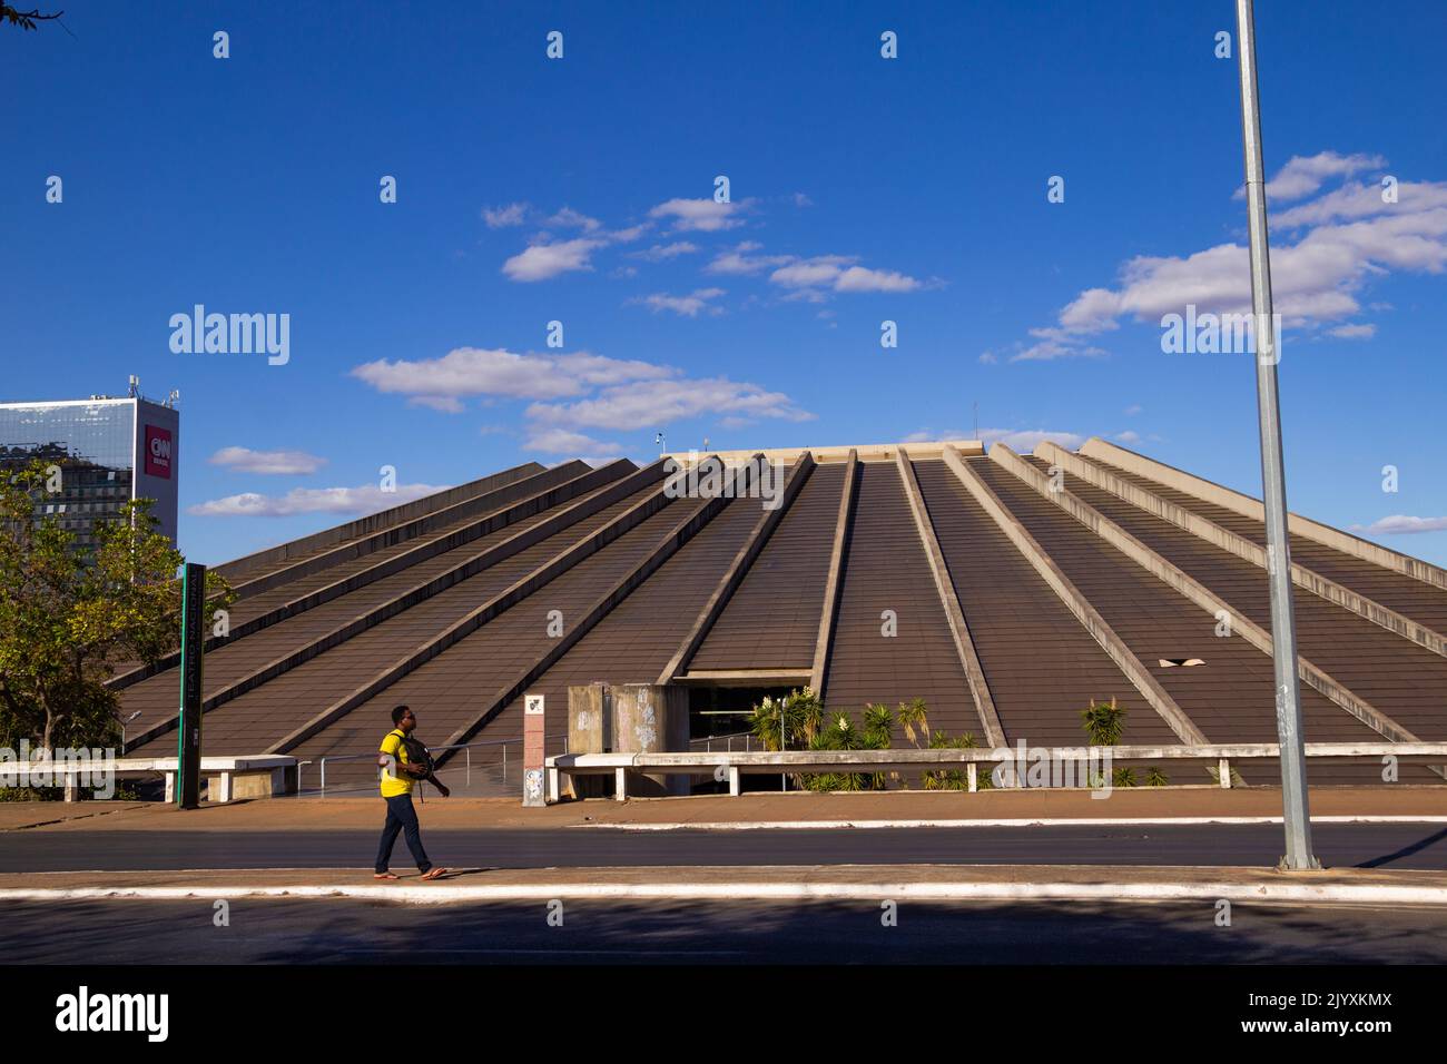
M431 796L418 803L427 831L473 828L548 829L741 828L741 827L912 827L968 822L1121 821L1142 822L1281 816L1281 790L1250 788L1121 789L1107 799L1088 790L1026 789L883 793L752 793L739 798L589 799L524 809L512 798ZM1447 819L1447 788L1398 783L1378 788L1314 788L1314 819ZM318 831L376 829L383 818L375 798L271 798L179 811L162 802L7 802L0 831Z

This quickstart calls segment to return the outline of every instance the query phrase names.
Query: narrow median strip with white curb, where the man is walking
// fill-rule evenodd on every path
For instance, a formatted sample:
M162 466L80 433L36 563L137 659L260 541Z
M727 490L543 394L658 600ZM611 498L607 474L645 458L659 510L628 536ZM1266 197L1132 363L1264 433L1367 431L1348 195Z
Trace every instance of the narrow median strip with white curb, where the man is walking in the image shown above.
M6 900L355 898L410 903L673 900L1207 900L1447 906L1447 873L1242 867L939 866L457 869L423 883L369 869L0 874Z

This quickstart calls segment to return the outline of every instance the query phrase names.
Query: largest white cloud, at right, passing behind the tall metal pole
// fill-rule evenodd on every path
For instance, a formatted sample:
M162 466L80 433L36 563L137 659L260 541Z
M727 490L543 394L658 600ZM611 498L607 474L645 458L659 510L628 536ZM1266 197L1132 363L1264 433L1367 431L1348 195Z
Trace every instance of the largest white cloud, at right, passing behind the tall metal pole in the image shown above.
M1320 188L1325 177L1382 162L1324 152L1294 159L1278 177L1286 181L1288 194L1301 195ZM1447 271L1447 182L1408 182L1398 191L1398 203L1382 203L1379 188L1346 185L1272 219L1278 230L1299 232L1295 242L1278 239L1272 248L1275 310L1288 329L1315 329L1357 314L1357 295L1373 278L1393 271ZM1032 329L1037 342L1017 345L1020 353L1011 360L1101 355L1084 337L1117 329L1126 318L1158 324L1165 314L1184 314L1188 305L1198 314L1250 313L1246 246L1136 256L1121 268L1117 287L1088 288L1059 311L1055 326ZM1369 327L1343 326L1346 332L1333 334L1365 337Z

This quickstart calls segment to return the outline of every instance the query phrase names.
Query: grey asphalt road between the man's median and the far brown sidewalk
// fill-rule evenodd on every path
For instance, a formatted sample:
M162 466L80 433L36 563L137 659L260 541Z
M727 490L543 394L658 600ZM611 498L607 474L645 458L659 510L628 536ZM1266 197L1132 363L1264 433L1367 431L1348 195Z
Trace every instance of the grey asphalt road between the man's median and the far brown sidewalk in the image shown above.
M440 864L598 867L627 864L1236 864L1273 866L1278 825L1149 828L900 828L820 831L431 831ZM1447 870L1440 824L1323 824L1327 867ZM0 871L132 869L356 869L372 863L372 831L13 831ZM398 840L394 864L411 864Z

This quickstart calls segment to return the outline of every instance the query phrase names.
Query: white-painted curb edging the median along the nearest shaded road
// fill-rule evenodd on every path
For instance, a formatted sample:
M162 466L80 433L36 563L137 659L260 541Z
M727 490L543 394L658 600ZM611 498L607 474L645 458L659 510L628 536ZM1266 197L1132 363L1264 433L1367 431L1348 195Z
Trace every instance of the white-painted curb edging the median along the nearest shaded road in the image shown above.
M1347 905L1447 905L1447 887L1311 883L514 883L498 886L236 886L0 889L0 902L187 900L194 898L350 898L373 902L608 900L857 900L932 902L1297 902Z

